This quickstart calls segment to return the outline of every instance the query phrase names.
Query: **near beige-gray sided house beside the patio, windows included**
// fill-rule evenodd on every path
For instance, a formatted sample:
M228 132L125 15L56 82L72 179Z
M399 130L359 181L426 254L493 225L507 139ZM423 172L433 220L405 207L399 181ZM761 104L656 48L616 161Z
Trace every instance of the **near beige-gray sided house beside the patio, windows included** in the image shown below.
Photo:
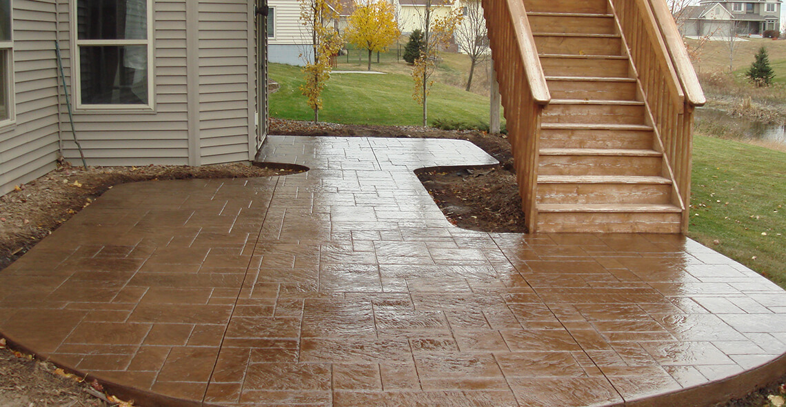
M257 2L0 0L0 194L79 161L57 45L88 165L253 159L266 134Z

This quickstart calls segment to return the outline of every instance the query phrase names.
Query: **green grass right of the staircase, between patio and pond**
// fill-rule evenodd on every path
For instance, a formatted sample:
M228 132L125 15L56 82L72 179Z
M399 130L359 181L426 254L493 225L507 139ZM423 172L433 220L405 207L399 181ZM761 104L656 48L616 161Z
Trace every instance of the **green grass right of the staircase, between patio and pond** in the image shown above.
M696 136L691 206L690 237L786 288L786 152Z

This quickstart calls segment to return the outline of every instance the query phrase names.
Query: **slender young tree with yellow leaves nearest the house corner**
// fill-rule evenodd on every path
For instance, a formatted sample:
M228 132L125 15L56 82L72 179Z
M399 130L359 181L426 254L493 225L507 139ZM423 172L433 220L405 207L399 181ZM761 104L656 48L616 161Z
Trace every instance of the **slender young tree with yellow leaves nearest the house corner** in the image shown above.
M313 57L301 55L306 65L303 74L306 83L300 86L303 96L308 98L308 105L314 109L314 121L319 121L319 110L322 108L322 91L330 79L332 63L330 58L343 46L341 36L329 24L338 20L340 3L337 0L300 0L300 24L306 28L311 37Z

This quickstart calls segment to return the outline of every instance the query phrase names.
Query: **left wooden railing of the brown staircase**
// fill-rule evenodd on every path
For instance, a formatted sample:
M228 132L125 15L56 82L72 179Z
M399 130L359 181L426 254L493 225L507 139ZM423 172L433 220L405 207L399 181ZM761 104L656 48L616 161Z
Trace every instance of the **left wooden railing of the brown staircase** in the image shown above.
M551 101L522 0L483 0L527 229L535 232L541 117Z

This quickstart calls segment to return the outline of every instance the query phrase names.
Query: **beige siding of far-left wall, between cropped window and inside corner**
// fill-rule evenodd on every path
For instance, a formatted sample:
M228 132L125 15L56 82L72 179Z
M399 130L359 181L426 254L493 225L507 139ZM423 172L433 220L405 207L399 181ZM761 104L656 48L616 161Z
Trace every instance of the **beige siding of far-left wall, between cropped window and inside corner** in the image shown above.
M0 129L0 194L55 167L57 60L53 0L13 1L16 120Z

